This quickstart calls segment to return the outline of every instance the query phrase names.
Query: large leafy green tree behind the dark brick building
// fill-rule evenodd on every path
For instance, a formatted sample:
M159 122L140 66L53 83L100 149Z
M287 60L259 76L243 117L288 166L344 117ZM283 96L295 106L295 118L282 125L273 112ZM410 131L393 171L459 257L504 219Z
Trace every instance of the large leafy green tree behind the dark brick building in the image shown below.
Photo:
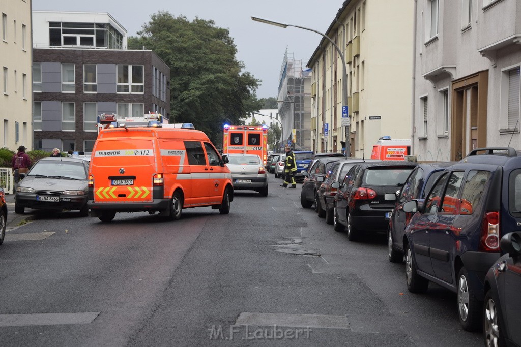
M222 125L242 124L262 107L255 94L261 81L242 71L229 31L212 20L159 11L128 46L152 49L170 67L170 122L193 123L217 147Z

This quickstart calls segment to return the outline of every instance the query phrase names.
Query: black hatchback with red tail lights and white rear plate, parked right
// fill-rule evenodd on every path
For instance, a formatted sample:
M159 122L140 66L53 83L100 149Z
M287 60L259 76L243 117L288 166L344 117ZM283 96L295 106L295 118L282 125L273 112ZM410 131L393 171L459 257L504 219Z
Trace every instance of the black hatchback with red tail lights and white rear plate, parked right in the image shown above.
M387 232L396 197L417 163L382 161L355 164L334 196L333 226L337 232L348 229L348 239L360 233Z

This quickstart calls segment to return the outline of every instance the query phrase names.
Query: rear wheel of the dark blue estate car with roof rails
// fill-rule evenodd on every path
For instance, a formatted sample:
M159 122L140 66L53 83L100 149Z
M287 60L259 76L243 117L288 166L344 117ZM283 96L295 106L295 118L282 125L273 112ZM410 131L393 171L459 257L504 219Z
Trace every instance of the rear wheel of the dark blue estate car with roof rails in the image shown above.
M460 323L466 331L479 329L481 323L482 303L476 299L474 290L469 285L467 269L462 267L457 280L457 306Z

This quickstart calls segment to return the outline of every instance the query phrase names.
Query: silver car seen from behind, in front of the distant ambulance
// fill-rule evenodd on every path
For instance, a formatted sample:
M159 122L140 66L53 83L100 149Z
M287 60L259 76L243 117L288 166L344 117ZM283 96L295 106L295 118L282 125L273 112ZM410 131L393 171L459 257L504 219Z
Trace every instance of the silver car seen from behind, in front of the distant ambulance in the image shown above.
M231 171L233 190L255 190L268 196L268 173L261 157L257 155L230 153L226 164Z

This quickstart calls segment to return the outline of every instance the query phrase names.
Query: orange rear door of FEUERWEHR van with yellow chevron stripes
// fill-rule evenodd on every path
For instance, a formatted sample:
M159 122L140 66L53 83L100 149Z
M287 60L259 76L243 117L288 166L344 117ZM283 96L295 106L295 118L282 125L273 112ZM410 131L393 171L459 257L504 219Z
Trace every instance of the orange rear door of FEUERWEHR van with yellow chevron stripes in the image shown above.
M158 162L154 139L98 139L90 163L94 202L152 201Z

